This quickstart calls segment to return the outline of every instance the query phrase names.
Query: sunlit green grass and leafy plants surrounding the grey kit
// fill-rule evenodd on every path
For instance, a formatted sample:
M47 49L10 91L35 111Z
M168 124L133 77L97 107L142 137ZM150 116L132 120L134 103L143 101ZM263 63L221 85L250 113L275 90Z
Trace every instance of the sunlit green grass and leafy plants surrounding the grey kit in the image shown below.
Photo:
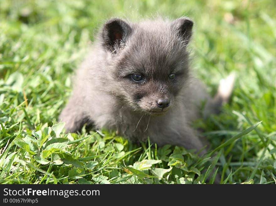
M66 134L56 122L104 20L156 13L195 21L193 67L211 93L222 77L237 75L223 113L195 123L212 145L203 158L104 130ZM2 0L0 182L212 183L216 165L221 183L276 183L275 13L273 0Z

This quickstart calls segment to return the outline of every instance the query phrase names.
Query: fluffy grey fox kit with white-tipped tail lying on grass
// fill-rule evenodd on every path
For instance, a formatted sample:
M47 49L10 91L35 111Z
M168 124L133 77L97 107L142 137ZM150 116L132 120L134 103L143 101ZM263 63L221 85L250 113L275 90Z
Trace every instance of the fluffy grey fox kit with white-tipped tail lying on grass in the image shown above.
M77 71L72 96L59 119L67 132L84 123L106 128L134 142L201 150L204 144L191 123L218 113L227 102L233 76L222 80L211 98L189 68L189 18L130 23L107 21Z

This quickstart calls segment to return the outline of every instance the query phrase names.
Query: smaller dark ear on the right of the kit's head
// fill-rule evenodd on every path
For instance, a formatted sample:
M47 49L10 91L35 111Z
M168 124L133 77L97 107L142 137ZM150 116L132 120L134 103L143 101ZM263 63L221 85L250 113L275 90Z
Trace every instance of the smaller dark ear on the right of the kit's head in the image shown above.
M194 22L191 19L182 17L173 21L171 26L172 29L182 38L185 44L188 44L192 36L193 25Z

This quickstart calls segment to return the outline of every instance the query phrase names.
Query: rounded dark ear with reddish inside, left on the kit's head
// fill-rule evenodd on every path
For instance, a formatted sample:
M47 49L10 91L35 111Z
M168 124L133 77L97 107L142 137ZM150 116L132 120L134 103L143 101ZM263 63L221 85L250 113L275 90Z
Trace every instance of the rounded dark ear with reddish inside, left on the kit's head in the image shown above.
M110 50L114 51L116 45L125 43L126 37L131 33L131 27L125 21L119 18L113 18L104 24L101 32L102 45Z

